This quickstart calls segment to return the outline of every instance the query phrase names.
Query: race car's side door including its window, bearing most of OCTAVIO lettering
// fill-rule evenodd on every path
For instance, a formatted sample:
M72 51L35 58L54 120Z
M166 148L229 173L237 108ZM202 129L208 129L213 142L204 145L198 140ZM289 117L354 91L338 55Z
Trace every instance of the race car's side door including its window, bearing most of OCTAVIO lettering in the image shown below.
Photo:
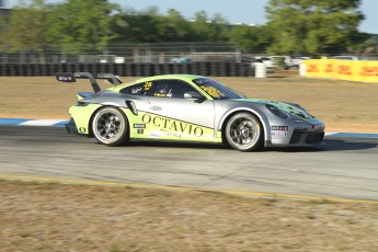
M197 92L182 80L152 81L144 123L156 127L156 137L188 140L215 137L215 108L211 100L184 98ZM197 92L198 93L198 92Z

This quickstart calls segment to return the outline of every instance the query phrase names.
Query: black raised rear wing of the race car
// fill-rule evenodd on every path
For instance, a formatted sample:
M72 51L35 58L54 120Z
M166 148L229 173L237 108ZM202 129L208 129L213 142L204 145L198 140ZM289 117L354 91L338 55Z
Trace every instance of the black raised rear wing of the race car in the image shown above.
M114 76L113 73L92 75L91 72L57 72L55 73L55 77L61 82L76 82L76 79L89 79L95 93L101 91L96 79L107 80L113 85L118 85L122 83L119 77Z

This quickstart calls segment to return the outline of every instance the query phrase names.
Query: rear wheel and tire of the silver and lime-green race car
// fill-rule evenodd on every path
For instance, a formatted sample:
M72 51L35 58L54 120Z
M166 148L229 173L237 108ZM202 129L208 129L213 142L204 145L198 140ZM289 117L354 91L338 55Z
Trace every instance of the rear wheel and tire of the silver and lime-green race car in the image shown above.
M92 119L92 133L101 144L121 146L128 141L127 118L115 107L101 108Z

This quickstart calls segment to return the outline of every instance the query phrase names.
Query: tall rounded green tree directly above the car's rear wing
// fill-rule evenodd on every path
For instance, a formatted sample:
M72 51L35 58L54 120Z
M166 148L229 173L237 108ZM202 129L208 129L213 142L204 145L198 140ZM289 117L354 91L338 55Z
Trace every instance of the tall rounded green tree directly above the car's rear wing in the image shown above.
M112 26L119 10L107 0L68 0L49 12L47 38L64 51L102 51L116 37Z

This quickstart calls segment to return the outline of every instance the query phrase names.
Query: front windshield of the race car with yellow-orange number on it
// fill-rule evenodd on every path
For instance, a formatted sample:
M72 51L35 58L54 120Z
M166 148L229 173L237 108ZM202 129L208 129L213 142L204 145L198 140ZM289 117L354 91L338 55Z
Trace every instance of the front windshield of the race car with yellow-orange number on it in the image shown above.
M193 82L215 100L245 98L237 91L209 78L195 79Z

